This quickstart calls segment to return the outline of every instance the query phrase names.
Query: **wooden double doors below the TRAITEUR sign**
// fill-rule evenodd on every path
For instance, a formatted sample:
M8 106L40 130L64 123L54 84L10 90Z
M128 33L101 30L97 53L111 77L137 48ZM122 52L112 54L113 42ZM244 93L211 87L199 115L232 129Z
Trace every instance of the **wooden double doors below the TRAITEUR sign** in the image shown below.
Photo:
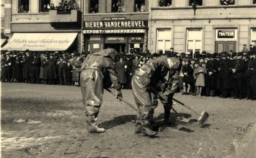
M236 41L216 41L215 52L236 52Z

